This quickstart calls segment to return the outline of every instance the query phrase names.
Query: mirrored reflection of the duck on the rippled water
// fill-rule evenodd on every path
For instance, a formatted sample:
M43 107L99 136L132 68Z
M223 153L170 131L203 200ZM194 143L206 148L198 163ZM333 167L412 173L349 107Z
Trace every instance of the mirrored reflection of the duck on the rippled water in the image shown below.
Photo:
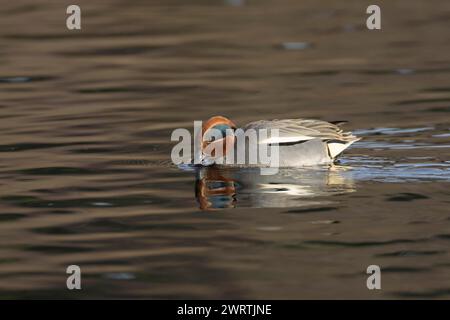
M234 207L300 207L327 202L312 198L355 191L345 168L279 169L261 175L258 168L196 168L195 195L202 210Z

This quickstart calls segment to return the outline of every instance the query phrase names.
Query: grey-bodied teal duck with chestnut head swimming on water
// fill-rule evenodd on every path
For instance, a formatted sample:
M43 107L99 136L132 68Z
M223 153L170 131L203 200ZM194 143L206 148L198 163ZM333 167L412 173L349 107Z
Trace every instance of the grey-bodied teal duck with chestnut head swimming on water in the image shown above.
M261 138L258 136L258 145L278 146L279 167L303 167L313 165L332 164L337 158L361 138L349 131L343 131L340 125L346 121L327 122L316 119L274 119L250 122L240 129L243 132L261 129L278 129L275 137ZM214 130L213 130L214 129ZM238 126L225 116L213 116L202 123L201 127L201 161L202 165L220 166L263 166L259 159L237 165L235 161L226 161L228 156L234 157L237 149ZM214 134L211 134L215 132ZM221 133L217 137L217 132ZM242 131L241 131L242 132ZM252 143L250 141L249 143ZM231 152L234 149L234 152ZM246 153L249 148L245 148ZM215 152L222 150L222 152ZM216 154L217 153L217 154ZM231 154L231 155L230 155Z

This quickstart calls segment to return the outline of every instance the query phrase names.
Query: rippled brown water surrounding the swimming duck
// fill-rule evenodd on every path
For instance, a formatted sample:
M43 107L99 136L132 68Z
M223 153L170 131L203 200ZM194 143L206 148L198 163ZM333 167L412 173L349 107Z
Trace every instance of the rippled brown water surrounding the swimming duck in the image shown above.
M77 3L81 32L2 3L1 298L450 297L448 1L383 2L381 32L359 1ZM363 139L264 179L171 165L216 114Z

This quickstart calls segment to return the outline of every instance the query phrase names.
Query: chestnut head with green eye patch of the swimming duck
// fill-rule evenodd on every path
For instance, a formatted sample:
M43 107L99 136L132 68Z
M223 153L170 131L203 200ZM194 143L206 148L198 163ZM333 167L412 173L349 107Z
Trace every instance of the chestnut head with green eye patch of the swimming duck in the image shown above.
M214 116L202 125L202 163L214 164L234 146L236 125L228 118Z

